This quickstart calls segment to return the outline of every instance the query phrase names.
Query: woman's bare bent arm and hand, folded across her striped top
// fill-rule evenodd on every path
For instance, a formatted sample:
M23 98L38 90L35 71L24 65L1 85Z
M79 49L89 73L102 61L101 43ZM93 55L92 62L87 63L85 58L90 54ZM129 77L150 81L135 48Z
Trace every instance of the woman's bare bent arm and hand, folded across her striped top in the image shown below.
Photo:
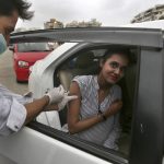
M80 119L80 106L81 106L81 93L77 82L72 82L70 85L70 94L78 95L79 98L69 103L68 109L68 128L70 133L77 133L86 130L94 125L101 122L105 118L115 115L121 107L121 101L115 102L109 109L102 115L95 115L86 119ZM104 115L104 116L103 116Z

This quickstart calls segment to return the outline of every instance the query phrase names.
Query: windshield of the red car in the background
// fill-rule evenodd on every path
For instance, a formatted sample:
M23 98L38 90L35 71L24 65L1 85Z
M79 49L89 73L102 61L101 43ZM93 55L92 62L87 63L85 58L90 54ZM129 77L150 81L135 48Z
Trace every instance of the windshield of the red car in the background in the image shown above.
M21 43L17 44L19 51L50 51L48 43Z

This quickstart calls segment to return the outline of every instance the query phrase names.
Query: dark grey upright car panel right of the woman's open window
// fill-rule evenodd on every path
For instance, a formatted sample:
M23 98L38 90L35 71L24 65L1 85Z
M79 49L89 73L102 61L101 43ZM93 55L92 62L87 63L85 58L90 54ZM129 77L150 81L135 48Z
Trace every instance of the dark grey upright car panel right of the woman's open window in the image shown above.
M163 56L164 49L141 54L130 156L139 164L160 164L163 156Z

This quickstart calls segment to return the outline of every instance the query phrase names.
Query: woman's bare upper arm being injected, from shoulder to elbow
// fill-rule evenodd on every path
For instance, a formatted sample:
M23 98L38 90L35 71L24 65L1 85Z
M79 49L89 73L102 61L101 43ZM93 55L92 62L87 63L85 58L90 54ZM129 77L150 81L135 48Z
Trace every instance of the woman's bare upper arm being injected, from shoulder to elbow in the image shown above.
M69 103L68 109L68 125L71 126L79 121L80 105L81 105L81 93L78 82L72 82L70 85L70 95L78 95L77 99Z

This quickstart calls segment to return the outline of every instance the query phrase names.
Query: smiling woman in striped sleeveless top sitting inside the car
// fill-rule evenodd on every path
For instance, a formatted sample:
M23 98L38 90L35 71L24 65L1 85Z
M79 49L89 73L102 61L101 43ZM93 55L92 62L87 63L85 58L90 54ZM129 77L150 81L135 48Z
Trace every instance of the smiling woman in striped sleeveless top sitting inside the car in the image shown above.
M80 75L72 80L70 94L79 96L70 102L68 128L71 134L118 150L120 133L119 110L121 89L116 84L130 62L129 50L110 49L99 62L96 75Z

